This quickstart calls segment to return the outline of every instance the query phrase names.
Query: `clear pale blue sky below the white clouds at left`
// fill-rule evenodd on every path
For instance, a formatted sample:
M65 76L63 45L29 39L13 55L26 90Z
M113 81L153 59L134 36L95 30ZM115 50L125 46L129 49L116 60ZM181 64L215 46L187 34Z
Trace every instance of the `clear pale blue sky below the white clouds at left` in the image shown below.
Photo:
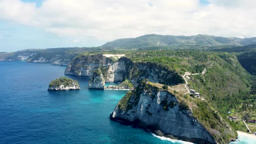
M47 49L59 47L99 46L104 42L85 39L76 43L69 37L58 36L42 28L26 26L14 22L0 21L0 52L13 52L22 49Z

